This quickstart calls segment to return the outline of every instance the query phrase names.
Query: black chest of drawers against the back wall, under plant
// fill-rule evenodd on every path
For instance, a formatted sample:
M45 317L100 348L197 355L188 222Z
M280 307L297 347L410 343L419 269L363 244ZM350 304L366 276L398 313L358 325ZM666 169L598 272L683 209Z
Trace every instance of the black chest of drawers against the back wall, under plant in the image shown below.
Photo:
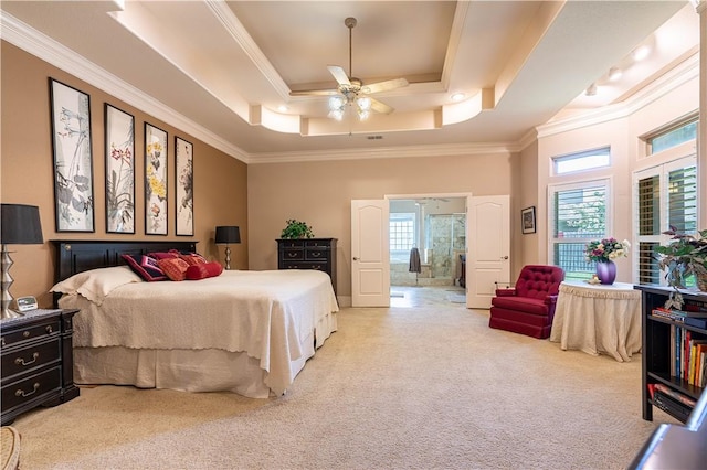
M336 293L336 238L277 241L277 269L317 269L331 278Z

